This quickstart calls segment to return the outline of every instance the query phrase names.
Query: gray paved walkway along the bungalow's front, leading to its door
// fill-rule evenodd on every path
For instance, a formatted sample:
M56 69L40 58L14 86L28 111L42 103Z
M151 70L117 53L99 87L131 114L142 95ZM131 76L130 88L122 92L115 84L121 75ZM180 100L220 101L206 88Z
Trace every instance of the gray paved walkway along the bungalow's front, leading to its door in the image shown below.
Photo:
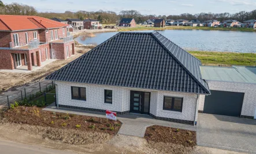
M106 118L106 115L104 112L76 110L72 108L61 108L61 107L56 108L54 106L48 106L43 110ZM118 134L124 134L128 136L144 137L146 128L151 125L168 126L168 127L175 127L180 129L196 131L196 127L194 126L175 123L175 122L161 121L161 120L154 119L149 115L125 114L125 115L117 115L117 119L118 121L123 123Z

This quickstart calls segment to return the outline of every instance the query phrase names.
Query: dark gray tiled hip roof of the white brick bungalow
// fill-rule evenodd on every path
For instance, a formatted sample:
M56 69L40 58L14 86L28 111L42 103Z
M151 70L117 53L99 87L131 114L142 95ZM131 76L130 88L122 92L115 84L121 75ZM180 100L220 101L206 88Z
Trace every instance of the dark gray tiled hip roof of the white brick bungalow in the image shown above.
M47 80L210 93L201 62L158 32L120 32Z

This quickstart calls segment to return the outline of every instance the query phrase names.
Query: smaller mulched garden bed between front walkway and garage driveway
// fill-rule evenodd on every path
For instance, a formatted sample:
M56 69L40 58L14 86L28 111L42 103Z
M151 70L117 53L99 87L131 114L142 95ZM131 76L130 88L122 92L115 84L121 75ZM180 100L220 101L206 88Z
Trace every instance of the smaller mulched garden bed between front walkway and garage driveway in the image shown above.
M144 138L147 141L169 142L180 144L184 147L194 147L196 145L196 133L194 131L165 126L154 125L147 127Z

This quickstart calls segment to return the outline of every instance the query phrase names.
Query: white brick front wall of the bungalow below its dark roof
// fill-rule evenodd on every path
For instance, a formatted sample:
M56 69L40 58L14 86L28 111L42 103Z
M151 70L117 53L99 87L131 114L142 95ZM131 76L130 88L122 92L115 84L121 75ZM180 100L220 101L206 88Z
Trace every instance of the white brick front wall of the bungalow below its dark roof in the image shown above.
M99 110L112 110L118 112L129 111L130 92L150 92L150 114L156 117L194 121L197 95L195 93L179 93L166 91L150 91L146 89L114 87L107 85L81 84L76 82L55 81L57 84L58 104L65 106L94 108ZM87 100L71 99L71 87L85 87ZM104 103L104 89L113 91L112 104ZM164 96L183 97L182 112L163 110ZM199 104L199 103L198 103ZM196 116L197 118L197 116Z

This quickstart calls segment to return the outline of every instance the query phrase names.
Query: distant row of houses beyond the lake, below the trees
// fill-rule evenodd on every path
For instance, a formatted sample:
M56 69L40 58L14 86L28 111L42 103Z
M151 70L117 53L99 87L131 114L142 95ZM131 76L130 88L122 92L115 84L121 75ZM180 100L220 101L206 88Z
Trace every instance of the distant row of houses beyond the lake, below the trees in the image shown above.
M87 18L86 20L80 20L79 18L67 18L62 20L60 18L51 18L51 20L63 22L68 24L71 27L69 31L73 30L83 30L83 29L102 29L102 24L100 21ZM136 27L136 21L134 18L123 18L118 22L118 27ZM235 27L235 28L256 28L256 20L246 20L246 21L237 21L237 20L207 20L199 21L197 19L188 21L185 19L173 20L173 19L163 19L163 18L150 18L147 21L140 23L139 25L144 25L146 27L166 27L166 26L190 26L190 27ZM114 27L112 27L114 28Z

